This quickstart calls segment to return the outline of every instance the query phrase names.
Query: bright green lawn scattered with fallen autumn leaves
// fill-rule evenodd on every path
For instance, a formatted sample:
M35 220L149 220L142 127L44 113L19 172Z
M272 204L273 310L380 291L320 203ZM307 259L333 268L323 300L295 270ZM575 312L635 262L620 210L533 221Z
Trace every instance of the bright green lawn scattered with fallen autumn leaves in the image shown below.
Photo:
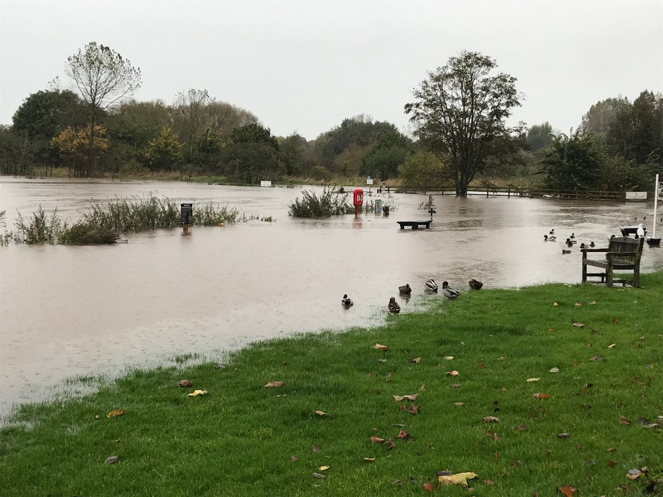
M220 358L224 369L183 360L84 398L28 405L0 431L0 493L427 495L423 484L449 470L477 473L479 496L557 496L561 485L576 497L662 495L663 432L638 420L663 416L663 273L642 285L467 291L374 329L256 342ZM193 387L177 387L184 379ZM284 384L265 388L272 380ZM188 397L194 389L208 393ZM392 398L406 394L418 398ZM411 404L416 415L400 409ZM113 409L126 412L107 418ZM398 439L401 429L412 439ZM626 478L644 466L646 477Z

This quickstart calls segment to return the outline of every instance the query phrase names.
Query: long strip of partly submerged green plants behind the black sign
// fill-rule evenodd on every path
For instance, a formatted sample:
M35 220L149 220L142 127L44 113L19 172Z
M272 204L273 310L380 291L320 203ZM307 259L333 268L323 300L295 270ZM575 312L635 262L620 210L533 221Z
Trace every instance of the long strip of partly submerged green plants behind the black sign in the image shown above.
M0 213L0 244L10 240L26 244L108 244L119 240L122 234L158 228L175 228L181 225L180 206L173 200L155 197L117 197L105 204L91 202L90 208L81 212L81 218L72 225L63 221L57 208L50 214L41 206L32 216L23 218L21 213L15 222L16 231L8 231L4 221L6 213ZM240 214L236 207L204 204L193 206L193 225L218 226L234 222L273 218Z

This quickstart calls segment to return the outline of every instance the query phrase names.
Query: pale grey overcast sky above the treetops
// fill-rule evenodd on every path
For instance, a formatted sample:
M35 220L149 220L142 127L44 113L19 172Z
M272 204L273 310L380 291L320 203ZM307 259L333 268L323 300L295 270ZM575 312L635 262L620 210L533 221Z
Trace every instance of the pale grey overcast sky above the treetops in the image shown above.
M142 70L137 100L209 90L274 135L403 106L461 50L524 95L515 121L568 132L595 102L663 91L663 0L0 0L0 124L90 41Z

